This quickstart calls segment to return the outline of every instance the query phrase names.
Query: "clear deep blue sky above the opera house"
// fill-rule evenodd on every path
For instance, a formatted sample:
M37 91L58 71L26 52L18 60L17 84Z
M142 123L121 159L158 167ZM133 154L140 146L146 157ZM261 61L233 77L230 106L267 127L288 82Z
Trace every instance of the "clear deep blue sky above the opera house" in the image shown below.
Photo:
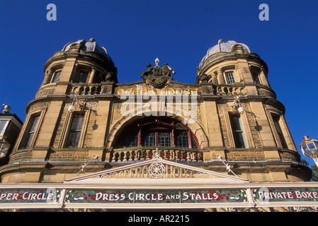
M50 3L57 6L56 21L46 18ZM259 20L263 3L268 21ZM208 49L219 39L235 40L268 64L268 79L299 147L302 136L318 139L317 25L315 0L0 0L0 104L11 93L7 105L24 121L45 61L68 42L94 37L117 66L119 83L140 81L157 57L176 71L175 81L194 83Z

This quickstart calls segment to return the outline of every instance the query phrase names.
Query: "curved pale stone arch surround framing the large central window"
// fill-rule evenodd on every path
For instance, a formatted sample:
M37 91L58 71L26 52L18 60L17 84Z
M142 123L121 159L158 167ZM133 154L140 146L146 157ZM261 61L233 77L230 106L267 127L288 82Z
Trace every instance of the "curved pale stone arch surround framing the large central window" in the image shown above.
M158 114L159 115L159 114ZM167 115L167 114L165 114ZM169 114L168 114L169 115ZM106 138L106 148L113 148L116 139L119 137L120 133L123 133L123 131L129 130L130 124L134 124L136 121L140 121L142 119L145 119L149 116L145 116L142 114L142 116L139 116L137 114L126 114L124 117L122 117L120 120L116 121L114 124L110 126L110 132L108 133L108 136ZM156 119L160 118L170 118L174 119L176 121L180 121L182 124L186 125L188 129L195 135L195 138L198 141L198 144L200 145L200 149L208 148L209 147L209 141L208 136L206 136L205 131L203 130L203 126L200 124L198 120L194 119L186 119L185 117L176 116L173 114L169 117L154 117ZM186 123L187 121L191 121L192 123Z

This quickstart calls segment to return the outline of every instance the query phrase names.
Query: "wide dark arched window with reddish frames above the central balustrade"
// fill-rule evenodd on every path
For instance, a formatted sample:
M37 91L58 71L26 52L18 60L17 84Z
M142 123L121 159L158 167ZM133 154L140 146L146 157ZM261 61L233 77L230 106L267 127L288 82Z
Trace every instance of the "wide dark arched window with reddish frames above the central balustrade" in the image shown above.
M199 147L188 126L173 119L141 119L128 127L116 139L114 147Z

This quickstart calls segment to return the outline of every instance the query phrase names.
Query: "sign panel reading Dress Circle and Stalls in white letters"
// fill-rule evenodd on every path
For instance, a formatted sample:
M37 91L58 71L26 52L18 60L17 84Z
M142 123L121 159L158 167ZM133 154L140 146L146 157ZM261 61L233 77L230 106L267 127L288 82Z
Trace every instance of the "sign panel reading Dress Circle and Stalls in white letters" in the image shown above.
M242 203L245 190L207 191L67 191L67 203Z

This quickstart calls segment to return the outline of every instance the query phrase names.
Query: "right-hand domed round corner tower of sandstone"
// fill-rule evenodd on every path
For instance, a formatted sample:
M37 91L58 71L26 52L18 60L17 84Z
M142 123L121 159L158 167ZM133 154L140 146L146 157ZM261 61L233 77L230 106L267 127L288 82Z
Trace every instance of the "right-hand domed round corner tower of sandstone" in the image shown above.
M217 117L211 114L206 124L209 130L220 124L219 156L251 182L310 179L310 169L300 164L285 107L268 82L268 66L258 54L246 44L219 40L200 61L195 83L203 88L203 105L215 105ZM220 150L215 138L210 138L212 158Z

